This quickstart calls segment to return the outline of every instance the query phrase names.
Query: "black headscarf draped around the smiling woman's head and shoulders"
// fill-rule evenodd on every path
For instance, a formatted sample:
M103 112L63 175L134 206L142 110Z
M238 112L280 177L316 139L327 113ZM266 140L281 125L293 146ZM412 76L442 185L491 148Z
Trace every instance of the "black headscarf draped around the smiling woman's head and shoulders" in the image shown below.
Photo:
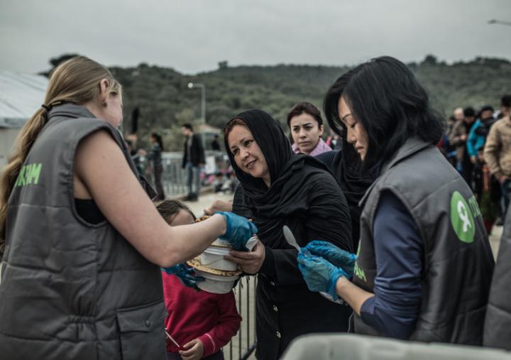
M312 156L293 153L284 131L269 114L251 109L243 111L233 119L242 119L251 131L270 171L271 183L270 187L267 187L263 179L253 178L238 168L233 154L227 151L240 181L234 196L233 212L254 220L259 229L258 237L263 244L272 249L288 247L282 236L284 219L294 213L307 212L312 193L328 197L334 206L346 207L340 188L339 191L332 191L322 187L322 181L334 181L326 165ZM224 141L226 149L229 149L228 139L225 138ZM329 219L331 214L322 214L322 218ZM325 224L325 229L331 227ZM331 239L339 239L336 235L339 234L339 229L325 231L331 231ZM346 239L345 242L343 247L351 249L351 239Z

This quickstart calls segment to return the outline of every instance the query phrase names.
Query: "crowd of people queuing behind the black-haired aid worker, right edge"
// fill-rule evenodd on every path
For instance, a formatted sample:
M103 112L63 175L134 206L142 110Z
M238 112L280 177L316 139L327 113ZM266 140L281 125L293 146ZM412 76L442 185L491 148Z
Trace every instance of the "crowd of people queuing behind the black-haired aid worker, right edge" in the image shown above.
M509 94L497 111L490 105L457 108L437 144L476 195L488 234L493 224L502 225L510 201L510 109Z

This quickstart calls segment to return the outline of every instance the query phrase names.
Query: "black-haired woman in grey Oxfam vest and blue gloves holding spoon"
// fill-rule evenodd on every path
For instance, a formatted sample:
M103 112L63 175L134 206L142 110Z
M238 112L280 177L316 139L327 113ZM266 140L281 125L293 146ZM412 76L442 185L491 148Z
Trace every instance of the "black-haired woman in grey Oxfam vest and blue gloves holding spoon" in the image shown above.
M376 180L357 256L321 242L298 256L309 288L346 300L358 334L480 345L493 256L471 189L434 147L427 93L382 57L341 76L326 108Z

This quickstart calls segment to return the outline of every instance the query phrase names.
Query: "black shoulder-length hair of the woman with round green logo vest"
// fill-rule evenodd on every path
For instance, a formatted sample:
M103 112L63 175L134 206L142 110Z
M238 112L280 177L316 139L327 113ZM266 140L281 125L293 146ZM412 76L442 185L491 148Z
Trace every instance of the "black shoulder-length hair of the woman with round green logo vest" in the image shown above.
M426 90L395 58L372 59L331 85L324 112L329 126L339 135L346 130L338 111L341 97L368 136L363 170L380 159L389 160L413 136L436 144L444 132L444 119L432 109Z

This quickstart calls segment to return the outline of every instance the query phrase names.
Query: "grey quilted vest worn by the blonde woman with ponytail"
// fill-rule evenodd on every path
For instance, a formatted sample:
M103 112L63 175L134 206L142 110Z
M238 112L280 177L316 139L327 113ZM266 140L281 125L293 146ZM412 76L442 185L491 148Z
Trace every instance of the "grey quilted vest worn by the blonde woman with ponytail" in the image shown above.
M50 111L16 180L1 264L2 360L165 359L160 268L109 222L89 224L75 209L75 151L99 129L136 174L116 129L65 104Z

